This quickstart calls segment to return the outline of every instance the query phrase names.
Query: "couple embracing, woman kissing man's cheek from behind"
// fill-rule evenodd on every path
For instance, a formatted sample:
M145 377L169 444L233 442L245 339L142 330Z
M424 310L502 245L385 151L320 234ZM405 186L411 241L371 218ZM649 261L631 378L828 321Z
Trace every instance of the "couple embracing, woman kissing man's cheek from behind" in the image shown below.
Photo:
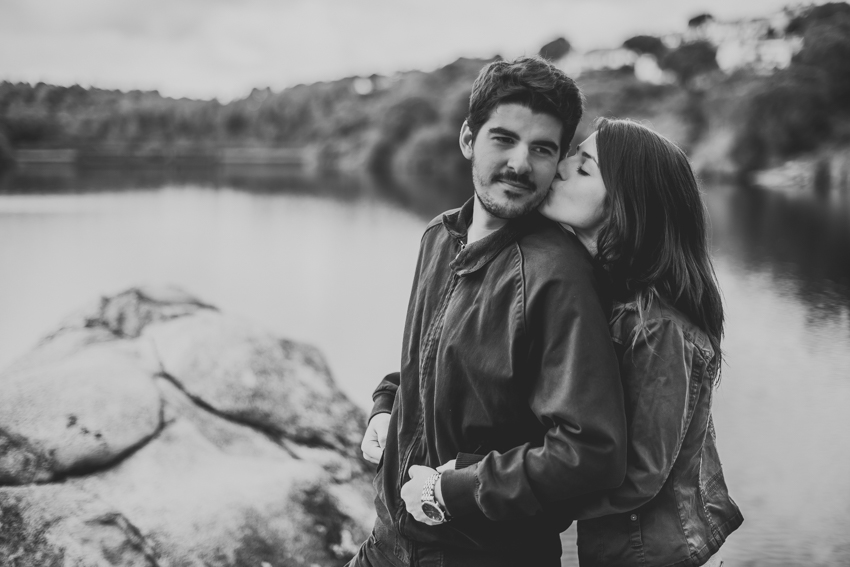
M363 440L377 521L353 567L720 565L743 521L715 448L723 309L684 153L575 82L482 69L475 194L422 236L401 369Z

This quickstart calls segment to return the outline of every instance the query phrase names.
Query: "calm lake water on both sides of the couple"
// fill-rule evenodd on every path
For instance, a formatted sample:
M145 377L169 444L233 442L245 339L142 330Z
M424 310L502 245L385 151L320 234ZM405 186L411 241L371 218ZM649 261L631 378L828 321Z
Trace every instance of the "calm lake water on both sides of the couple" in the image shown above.
M317 345L366 408L398 367L422 229L454 204L424 187L400 199L275 171L6 176L0 367L101 294L176 284ZM727 565L850 565L848 198L713 186L706 201L728 320L715 423L746 518Z

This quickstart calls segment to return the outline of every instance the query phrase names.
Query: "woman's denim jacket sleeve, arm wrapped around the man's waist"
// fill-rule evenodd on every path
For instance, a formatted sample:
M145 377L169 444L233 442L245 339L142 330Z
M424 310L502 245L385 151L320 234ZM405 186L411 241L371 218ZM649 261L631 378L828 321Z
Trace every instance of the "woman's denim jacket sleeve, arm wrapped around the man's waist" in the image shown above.
M652 500L670 475L693 415L694 365L707 362L681 327L650 320L629 341L620 366L631 416L626 478L619 488L578 499L576 519L629 512Z

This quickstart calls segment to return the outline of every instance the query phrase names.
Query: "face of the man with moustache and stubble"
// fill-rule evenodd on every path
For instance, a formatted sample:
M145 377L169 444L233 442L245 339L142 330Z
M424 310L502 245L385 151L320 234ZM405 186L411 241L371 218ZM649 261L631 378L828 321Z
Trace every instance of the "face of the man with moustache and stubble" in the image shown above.
M464 123L460 145L472 160L475 195L484 210L512 219L535 209L558 169L561 122L520 104L497 106L478 136Z

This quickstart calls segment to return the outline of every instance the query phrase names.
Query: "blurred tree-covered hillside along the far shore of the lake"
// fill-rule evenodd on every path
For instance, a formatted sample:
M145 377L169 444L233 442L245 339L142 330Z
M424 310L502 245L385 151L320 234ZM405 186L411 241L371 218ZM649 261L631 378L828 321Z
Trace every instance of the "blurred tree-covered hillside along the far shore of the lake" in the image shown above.
M703 14L690 25L710 21ZM589 108L580 133L595 116L629 116L661 124L680 143L694 144L712 116L726 116L718 108L734 107L735 118L728 112L724 127L734 132L733 158L743 171L850 135L850 5L810 7L787 31L803 38L792 65L767 77L742 72L743 79L722 78L716 48L707 41L669 49L657 37L632 37L623 47L656 57L675 73L678 85L649 85L622 71L585 73L579 83ZM541 54L559 59L569 49L559 38ZM2 82L0 163L11 148L70 147L168 159L212 156L223 146L309 147L322 170L450 177L468 167L457 152L457 132L472 81L486 62L458 59L429 73L351 77L282 92L255 89L228 104ZM699 80L706 75L716 81ZM725 99L722 93L713 96L715 106L707 110L706 85L715 85L714 93L741 83L746 88L740 96L731 91Z

